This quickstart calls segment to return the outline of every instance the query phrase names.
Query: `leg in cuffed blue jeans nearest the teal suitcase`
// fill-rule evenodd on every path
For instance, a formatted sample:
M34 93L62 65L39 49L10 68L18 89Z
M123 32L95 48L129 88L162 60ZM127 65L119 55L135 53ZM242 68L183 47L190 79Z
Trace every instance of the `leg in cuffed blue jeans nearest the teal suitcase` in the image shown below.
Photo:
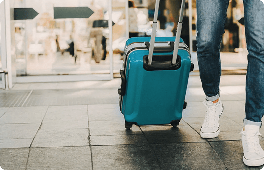
M220 43L229 0L197 0L197 59L206 99L219 98Z

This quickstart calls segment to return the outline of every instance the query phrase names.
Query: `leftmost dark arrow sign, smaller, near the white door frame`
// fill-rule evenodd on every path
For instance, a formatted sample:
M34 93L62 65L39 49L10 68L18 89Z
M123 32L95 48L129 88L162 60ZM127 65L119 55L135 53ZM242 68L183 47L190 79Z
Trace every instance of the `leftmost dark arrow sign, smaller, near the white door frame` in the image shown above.
M32 20L37 14L33 8L14 8L14 20Z

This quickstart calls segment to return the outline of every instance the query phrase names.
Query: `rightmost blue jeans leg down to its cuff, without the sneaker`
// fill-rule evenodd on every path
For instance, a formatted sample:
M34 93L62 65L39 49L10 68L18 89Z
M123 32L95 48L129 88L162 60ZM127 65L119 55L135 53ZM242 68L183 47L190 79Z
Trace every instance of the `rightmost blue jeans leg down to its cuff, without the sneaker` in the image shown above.
M244 0L244 10L248 50L245 123L261 126L264 115L264 4L259 0Z

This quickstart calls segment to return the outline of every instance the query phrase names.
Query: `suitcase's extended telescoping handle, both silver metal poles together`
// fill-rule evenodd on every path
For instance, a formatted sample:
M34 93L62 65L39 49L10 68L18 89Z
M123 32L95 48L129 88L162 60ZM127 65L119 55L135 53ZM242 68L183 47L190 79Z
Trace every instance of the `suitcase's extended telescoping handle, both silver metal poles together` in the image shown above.
M179 49L179 43L180 43L180 37L181 37L181 29L182 29L182 19L183 19L184 7L185 7L185 0L182 0L181 10L180 10L180 17L179 17L179 21L178 21L177 32L176 32L175 43L174 43L172 64L176 64L176 61L177 61L178 49ZM153 25L152 25L152 31L151 31L151 37L150 37L148 65L152 64L152 57L153 57L154 43L155 43L155 35L156 35L156 30L157 30L158 10L159 10L159 0L156 0L154 18L153 18Z

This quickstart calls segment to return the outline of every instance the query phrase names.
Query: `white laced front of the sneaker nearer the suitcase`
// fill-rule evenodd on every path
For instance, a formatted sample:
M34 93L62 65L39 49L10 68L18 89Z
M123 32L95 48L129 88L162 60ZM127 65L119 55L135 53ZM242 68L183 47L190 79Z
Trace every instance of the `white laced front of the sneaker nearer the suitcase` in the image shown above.
M215 118L216 118L215 109L216 109L217 104L208 106L206 104L206 101L204 101L203 104L206 107L204 124L206 127L212 127L213 128L213 127L215 127Z

